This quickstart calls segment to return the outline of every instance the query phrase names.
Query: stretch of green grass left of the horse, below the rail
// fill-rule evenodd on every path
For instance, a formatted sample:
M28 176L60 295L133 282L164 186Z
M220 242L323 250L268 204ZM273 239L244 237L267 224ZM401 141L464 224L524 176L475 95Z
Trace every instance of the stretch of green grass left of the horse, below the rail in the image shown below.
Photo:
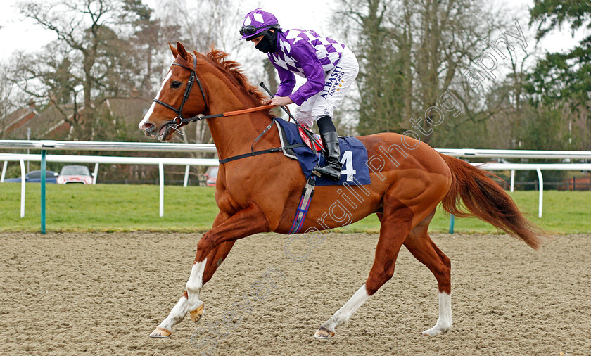
M158 186L47 184L47 231L206 231L217 206L214 188L165 186L164 217ZM20 184L0 184L0 231L39 231L40 185L27 183L20 218Z

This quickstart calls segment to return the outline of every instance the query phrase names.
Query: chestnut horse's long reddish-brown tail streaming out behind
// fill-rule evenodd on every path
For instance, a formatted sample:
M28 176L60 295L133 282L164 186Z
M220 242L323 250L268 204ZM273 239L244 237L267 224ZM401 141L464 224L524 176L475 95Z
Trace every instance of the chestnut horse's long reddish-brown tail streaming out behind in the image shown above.
M445 211L457 217L476 216L538 249L540 236L547 233L521 215L509 194L488 177L492 174L449 155L441 156L452 172L450 191L441 202ZM464 207L469 212L462 211Z

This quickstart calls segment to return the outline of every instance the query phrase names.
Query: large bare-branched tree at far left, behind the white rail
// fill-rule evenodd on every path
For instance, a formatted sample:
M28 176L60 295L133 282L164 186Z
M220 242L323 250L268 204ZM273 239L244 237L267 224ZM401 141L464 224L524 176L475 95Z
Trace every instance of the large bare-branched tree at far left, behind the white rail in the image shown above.
M32 61L30 55L21 54L14 82L28 94L45 97L54 104L70 97L75 103L71 124L78 138L89 138L98 126L94 98L101 94L117 95L120 88L116 78L125 71L117 73L115 68L120 68L127 56L125 46L117 42L120 34L132 32L136 18L145 15L139 13L145 9L140 4L134 0L20 3L20 13L25 18L55 32L58 40L46 47L51 56L37 54L37 61ZM80 106L76 103L78 87L84 115L80 115Z

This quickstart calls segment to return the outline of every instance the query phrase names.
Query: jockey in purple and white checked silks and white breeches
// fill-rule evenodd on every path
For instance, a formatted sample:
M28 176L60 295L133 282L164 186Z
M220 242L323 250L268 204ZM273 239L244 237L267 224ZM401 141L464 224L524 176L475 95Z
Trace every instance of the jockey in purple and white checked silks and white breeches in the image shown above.
M355 54L344 44L314 31L283 30L272 13L260 8L246 14L240 34L241 39L252 41L256 49L267 53L279 73L281 84L271 103L296 103L295 120L307 127L317 122L328 152L326 165L314 170L333 180L341 179L341 152L332 118L359 72ZM296 91L294 74L307 80Z

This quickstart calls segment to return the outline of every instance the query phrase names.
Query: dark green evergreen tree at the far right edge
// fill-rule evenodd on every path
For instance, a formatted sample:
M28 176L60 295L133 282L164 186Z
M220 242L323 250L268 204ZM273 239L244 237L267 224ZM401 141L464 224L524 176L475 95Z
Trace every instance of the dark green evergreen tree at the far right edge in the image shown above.
M530 23L538 23L538 39L566 23L573 32L591 30L591 1L535 0L530 12ZM547 53L529 73L528 82L532 103L543 114L537 118L549 121L542 125L554 126L554 113L558 113L561 132L568 127L568 134L562 136L568 144L547 142L544 148L591 149L591 34L571 51ZM544 132L555 133L542 129L540 134Z

